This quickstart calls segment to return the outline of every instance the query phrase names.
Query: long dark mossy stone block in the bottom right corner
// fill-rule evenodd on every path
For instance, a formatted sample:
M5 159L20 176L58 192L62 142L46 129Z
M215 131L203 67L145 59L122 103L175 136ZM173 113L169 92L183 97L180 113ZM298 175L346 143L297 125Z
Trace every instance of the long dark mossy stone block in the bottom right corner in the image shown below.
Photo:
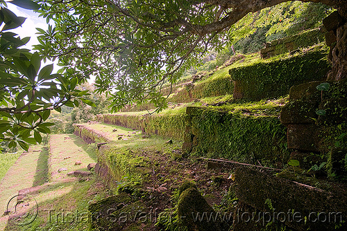
M267 221L264 225L282 221L294 230L347 229L345 186L330 185L331 190L322 190L246 167L236 169L235 183L239 201L262 211Z

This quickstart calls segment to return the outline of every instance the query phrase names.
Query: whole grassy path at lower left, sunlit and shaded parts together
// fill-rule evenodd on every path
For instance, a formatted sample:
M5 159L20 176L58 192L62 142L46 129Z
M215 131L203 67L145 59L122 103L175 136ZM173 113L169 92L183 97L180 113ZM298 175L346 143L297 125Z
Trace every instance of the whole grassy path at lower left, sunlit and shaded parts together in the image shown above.
M37 201L38 215L33 223L25 226L13 225L12 221L8 221L6 225L8 216L2 216L5 223L0 230L86 230L88 222L85 214L88 202L103 198L108 191L94 176L81 181L79 178L67 176L67 173L75 170L87 171L89 163L96 163L94 150L72 134L51 135L49 149L44 149L45 155L40 151L42 147L32 149L21 156L3 178L1 185L7 185L11 190L8 196L1 193L1 200L6 203L18 190L35 187L30 195ZM76 161L81 162L81 165L75 165ZM58 169L62 171L58 172ZM76 222L61 220L62 214L71 213L78 214Z

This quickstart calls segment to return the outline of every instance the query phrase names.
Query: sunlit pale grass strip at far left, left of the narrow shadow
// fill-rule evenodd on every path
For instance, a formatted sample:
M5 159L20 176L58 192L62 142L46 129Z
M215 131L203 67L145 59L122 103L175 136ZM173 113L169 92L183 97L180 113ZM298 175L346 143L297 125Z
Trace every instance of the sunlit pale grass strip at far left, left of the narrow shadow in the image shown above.
M48 151L42 146L31 147L27 153L22 154L8 172L3 177L0 183L0 230L6 225L7 216L2 216L6 210L8 200L18 194L19 190L26 187L35 186L39 183L40 174L44 169L40 169L40 157L48 156ZM43 166L44 167L44 166Z

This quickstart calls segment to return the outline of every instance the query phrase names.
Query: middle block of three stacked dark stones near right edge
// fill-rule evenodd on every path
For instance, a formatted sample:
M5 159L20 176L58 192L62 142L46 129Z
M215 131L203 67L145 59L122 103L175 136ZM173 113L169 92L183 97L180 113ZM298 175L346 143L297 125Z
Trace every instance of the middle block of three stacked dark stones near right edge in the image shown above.
M280 121L282 124L314 124L318 115L318 104L311 101L292 100L282 107Z

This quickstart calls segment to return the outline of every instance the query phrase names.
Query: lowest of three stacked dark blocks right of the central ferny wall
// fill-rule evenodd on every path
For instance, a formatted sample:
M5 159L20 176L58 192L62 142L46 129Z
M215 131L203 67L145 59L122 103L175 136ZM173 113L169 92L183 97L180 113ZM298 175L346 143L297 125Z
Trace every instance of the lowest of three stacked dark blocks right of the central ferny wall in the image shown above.
M287 142L289 149L319 151L318 129L314 124L289 124Z

